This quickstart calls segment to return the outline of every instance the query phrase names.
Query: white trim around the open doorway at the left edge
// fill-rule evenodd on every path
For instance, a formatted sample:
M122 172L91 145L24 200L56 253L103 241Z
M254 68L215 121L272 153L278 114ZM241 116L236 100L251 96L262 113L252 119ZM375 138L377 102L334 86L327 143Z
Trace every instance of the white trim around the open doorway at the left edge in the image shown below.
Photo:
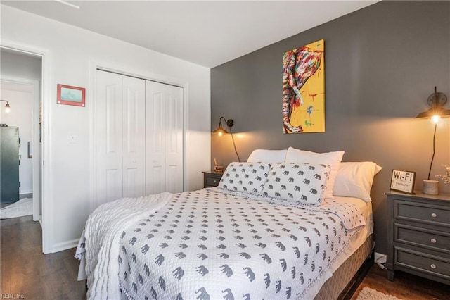
M33 46L15 44L14 42L2 40L0 46L4 49L18 51L30 56L39 56L42 59L41 75L41 104L42 104L42 141L41 141L41 194L42 194L42 252L51 253L53 245L53 203L51 194L51 131L49 124L51 121L51 58L49 51L37 49ZM35 144L35 143L33 143ZM38 143L36 143L38 144ZM44 164L45 162L45 164Z

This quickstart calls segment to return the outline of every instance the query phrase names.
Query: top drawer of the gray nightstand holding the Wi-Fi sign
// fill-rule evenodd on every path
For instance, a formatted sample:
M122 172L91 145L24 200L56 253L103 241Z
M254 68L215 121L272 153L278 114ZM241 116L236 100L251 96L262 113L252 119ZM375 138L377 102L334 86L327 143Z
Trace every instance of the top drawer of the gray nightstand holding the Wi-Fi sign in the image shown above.
M450 227L450 210L443 206L397 201L394 218Z

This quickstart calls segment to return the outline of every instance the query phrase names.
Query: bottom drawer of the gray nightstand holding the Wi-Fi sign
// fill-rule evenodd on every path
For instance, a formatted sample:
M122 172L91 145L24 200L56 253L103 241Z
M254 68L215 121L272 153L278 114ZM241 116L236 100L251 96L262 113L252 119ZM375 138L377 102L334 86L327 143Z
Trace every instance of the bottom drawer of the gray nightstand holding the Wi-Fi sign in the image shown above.
M413 254L409 251L403 251L402 249L396 249L396 251L397 264L450 279L450 261L442 261L427 256L426 254Z

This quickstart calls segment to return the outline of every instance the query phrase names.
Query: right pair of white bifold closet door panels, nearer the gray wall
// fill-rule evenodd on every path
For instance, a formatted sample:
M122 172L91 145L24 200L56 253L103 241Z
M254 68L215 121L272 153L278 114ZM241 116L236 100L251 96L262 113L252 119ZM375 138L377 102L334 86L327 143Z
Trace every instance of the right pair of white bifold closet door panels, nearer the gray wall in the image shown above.
M183 191L183 88L146 82L147 193Z

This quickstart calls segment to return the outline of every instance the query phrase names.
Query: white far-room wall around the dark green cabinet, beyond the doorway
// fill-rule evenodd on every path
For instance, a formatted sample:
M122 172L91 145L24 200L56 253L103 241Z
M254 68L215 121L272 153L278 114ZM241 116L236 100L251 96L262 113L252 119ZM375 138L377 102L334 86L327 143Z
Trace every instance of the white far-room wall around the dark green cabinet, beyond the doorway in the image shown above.
M7 100L11 106L11 112L5 113L4 102L0 104L0 123L8 126L19 127L20 138L20 166L19 166L19 194L30 194L33 192L33 164L32 158L28 158L28 142L32 140L32 110L34 96L32 89L29 91L18 91L21 85L1 85L1 99Z

